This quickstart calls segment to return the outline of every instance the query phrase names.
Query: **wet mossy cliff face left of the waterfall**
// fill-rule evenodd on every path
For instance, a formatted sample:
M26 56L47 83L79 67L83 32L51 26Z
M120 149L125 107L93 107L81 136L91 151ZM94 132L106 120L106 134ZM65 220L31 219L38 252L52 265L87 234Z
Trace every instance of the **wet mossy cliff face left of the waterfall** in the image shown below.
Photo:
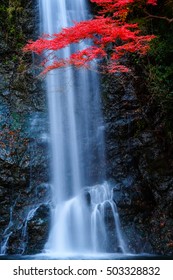
M49 171L44 88L33 71L31 57L21 50L28 39L37 36L36 9L36 1L2 1L0 4L1 253L28 252L27 241L34 234L38 248L32 252L38 252L48 232L48 223L45 225L49 216L46 206ZM40 207L45 208L44 219L39 216ZM27 224L32 220L31 232Z

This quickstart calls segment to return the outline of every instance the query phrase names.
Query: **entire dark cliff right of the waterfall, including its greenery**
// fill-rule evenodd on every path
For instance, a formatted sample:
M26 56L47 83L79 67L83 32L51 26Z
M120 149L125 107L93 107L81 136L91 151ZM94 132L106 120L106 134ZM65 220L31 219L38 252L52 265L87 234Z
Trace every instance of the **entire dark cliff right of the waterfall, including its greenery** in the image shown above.
M157 2L156 17L132 14L156 38L145 58L126 57L131 74L103 79L103 110L107 176L130 251L172 255L173 4Z

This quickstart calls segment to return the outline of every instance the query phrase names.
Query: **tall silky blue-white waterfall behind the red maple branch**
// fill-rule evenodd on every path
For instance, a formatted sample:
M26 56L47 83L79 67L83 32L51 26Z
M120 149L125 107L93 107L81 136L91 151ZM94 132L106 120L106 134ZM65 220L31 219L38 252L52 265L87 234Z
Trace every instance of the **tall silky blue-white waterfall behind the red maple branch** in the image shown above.
M74 20L86 20L89 11L86 0L40 0L40 14L42 32L53 34L72 25ZM85 46L81 43L78 48ZM58 54L65 58L76 49L73 45ZM68 254L121 248L124 252L116 205L110 187L103 183L105 160L98 76L88 70L53 70L47 75L46 85L53 210L45 250ZM111 229L107 216L112 220Z

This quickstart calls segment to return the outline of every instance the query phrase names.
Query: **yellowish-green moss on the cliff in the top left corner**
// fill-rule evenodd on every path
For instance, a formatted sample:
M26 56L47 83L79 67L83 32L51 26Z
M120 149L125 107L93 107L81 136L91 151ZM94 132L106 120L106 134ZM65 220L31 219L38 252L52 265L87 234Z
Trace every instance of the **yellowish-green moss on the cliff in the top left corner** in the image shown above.
M22 73L26 70L27 58L22 52L26 44L26 3L21 0L0 1L0 40L4 48L3 65ZM23 24L24 23L24 24Z

